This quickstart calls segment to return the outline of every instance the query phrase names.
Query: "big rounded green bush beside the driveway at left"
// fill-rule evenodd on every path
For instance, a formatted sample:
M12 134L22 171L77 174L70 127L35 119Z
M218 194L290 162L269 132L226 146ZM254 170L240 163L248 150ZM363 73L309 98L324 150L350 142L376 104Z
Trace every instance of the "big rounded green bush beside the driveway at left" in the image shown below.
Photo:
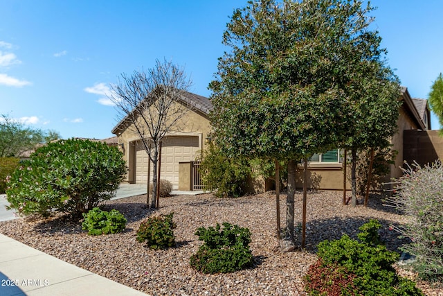
M109 200L127 171L122 153L105 143L69 139L38 148L12 173L10 208L19 214L50 216L65 212L81 217Z

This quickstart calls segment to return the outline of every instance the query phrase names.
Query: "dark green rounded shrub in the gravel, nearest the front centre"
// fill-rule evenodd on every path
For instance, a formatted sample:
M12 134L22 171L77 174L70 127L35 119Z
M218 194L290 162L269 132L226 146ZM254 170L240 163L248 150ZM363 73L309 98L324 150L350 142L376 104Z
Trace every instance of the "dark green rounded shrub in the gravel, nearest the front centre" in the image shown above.
M223 223L214 227L200 227L195 232L204 244L190 257L190 265L204 273L226 273L242 270L252 264L249 250L251 232L247 228Z

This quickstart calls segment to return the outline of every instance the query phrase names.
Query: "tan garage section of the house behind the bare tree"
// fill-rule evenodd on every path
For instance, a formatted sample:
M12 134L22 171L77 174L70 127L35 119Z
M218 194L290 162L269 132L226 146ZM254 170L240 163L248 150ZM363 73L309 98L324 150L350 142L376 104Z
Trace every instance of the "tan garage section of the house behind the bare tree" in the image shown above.
M167 134L162 141L161 179L172 182L174 189L191 190L192 162L201 155L209 139L211 126L208 114L213 105L208 98L189 92L183 93L180 103L190 110L186 113L186 125L180 127L180 132ZM112 133L118 137L118 147L123 151L129 168L127 182L147 184L149 157L132 124L123 119ZM152 165L150 171L151 182Z

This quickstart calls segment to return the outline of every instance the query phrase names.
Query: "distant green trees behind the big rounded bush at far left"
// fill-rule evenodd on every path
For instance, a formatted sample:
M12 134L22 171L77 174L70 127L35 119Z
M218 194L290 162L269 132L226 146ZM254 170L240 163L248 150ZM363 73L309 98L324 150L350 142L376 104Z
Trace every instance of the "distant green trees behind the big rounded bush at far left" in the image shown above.
M29 128L7 115L0 116L0 157L19 157L26 150L54 139L60 139L60 134L53 130Z

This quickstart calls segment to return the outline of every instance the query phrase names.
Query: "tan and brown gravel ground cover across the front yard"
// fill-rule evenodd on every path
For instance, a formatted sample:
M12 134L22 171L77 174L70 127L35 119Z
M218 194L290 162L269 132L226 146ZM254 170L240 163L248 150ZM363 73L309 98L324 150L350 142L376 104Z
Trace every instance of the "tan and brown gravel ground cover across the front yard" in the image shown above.
M302 276L316 261L316 245L342 234L356 237L358 228L375 218L383 225L381 237L390 250L404 241L389 225L401 225L406 217L383 207L379 196L370 199L367 208L342 205L343 193L319 191L307 198L306 248L281 253L276 250L275 195L264 193L242 198L220 199L212 194L161 198L161 209L146 207L146 195L111 200L104 209L118 209L128 220L125 232L106 236L88 236L80 223L64 216L51 220L29 218L0 223L0 232L120 284L147 295L305 295ZM281 224L284 225L286 195L280 195ZM296 194L296 225L302 219L302 194ZM150 250L136 241L140 223L152 214L174 212L177 247ZM192 269L189 258L202 244L195 236L198 227L228 222L248 227L255 265L231 274L205 275ZM298 231L298 241L300 241ZM401 270L414 277L412 272ZM443 289L418 282L426 295L443 295Z

